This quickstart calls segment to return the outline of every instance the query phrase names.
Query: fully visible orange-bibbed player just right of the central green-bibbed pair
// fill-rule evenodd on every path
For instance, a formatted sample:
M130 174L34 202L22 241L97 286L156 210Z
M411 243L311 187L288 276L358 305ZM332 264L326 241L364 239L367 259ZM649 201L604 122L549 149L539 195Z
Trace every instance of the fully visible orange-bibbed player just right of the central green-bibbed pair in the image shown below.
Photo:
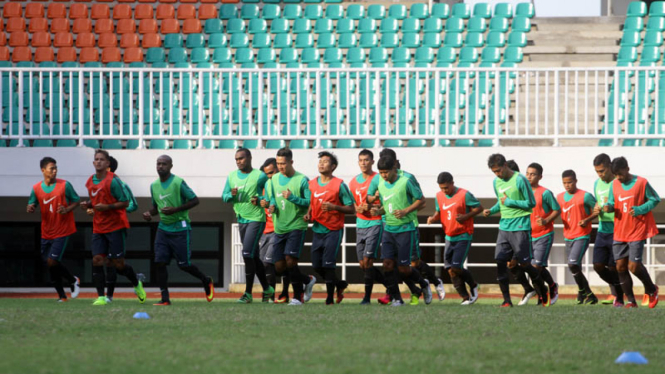
M349 286L335 274L337 252L344 236L344 215L353 214L353 197L343 180L333 176L337 169L337 157L330 152L319 152L318 178L309 181L312 194L305 221L313 222L312 265L326 282L326 305L337 304L344 299L344 290Z

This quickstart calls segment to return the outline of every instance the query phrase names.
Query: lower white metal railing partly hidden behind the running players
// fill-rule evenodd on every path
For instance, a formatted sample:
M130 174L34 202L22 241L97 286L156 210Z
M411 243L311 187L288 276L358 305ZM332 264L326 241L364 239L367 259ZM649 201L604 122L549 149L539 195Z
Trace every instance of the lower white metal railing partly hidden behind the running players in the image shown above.
M311 227L311 225L310 225ZM356 227L355 224L345 224L344 225L344 236L342 239L342 244L340 248L341 252L341 260L337 263L337 266L342 270L342 279L346 279L346 273L347 269L349 267L359 267L360 265L358 264L356 254L352 254L352 258L348 259L347 256L347 248L349 247L355 247L356 243L355 242L347 242L347 231L348 230L354 230ZM499 224L498 223L491 223L491 224L475 224L474 227L476 229L493 229L497 230L499 229ZM594 228L597 228L597 225L593 225ZM560 232L563 230L563 224L555 224L554 228L556 232ZM427 225L427 224L421 224L419 225L419 229L434 229L438 230L437 232L441 232L441 225L438 224L432 224L432 225ZM658 225L658 229L662 230L665 229L665 225ZM231 282L232 283L245 283L245 264L242 259L242 242L240 241L240 231L239 231L239 226L237 223L234 223L231 226L231 232L232 232L232 242L231 242ZM422 236L421 236L422 237ZM496 235L492 236L493 238L496 238ZM305 247L311 247L312 243L306 242ZM595 274L593 270L593 246L594 244L591 243L589 244L589 249L587 250L586 254L584 255L584 261L582 265L582 269L584 271L584 274L588 279L590 279L590 282L592 282L592 279L590 276L592 274ZM444 247L444 243L426 243L422 242L420 243L420 247L423 251L427 250L428 248L435 248L435 247ZM496 247L496 242L478 242L477 240L474 240L471 243L472 248L495 248ZM565 244L562 241L559 243L554 243L553 244L554 248L564 248ZM651 274L652 279L654 282L656 281L655 278L655 273L656 271L663 271L665 270L665 263L657 263L656 257L655 257L655 251L657 249L660 250L665 250L665 244L654 244L652 239L648 239L646 242L646 245L644 247L645 250L645 255L644 255L644 265L646 266L647 270ZM443 252L441 252L443 253ZM566 277L565 274L567 272L568 268L568 263L566 262L567 258L566 256L562 256L562 259L564 262L555 262L553 261L553 258L556 257L556 254L554 252L551 252L550 254L550 261L548 264L548 267L550 269L555 269L552 270L552 274L555 276L557 283L561 285L566 284ZM493 257L492 257L493 258ZM443 260L443 258L437 259L439 261ZM444 264L443 262L434 262L434 263L428 263L432 267L436 268L443 268ZM301 266L312 266L311 263L300 263ZM377 266L380 266L380 261L377 262ZM469 268L495 268L496 267L496 262L486 262L486 263L473 263L473 262L467 262L466 264L467 267ZM602 281L598 283L598 285L603 285Z

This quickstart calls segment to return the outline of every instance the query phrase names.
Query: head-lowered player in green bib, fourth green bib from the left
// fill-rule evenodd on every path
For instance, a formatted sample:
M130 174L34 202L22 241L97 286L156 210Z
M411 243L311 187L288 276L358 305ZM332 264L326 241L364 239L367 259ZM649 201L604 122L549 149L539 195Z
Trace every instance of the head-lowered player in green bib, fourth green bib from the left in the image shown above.
M397 175L395 159L384 156L378 162L378 191L383 209L373 207L372 215L381 210L386 216L385 232L381 240L383 268L388 293L393 306L402 306L404 301L397 287L395 265L400 277L411 290L411 305L418 304L422 294L425 303L432 302L432 291L429 282L424 279L416 268L411 267L414 251L417 251L416 225L414 221L417 211L425 204L420 188L405 176ZM420 288L416 286L420 285Z

